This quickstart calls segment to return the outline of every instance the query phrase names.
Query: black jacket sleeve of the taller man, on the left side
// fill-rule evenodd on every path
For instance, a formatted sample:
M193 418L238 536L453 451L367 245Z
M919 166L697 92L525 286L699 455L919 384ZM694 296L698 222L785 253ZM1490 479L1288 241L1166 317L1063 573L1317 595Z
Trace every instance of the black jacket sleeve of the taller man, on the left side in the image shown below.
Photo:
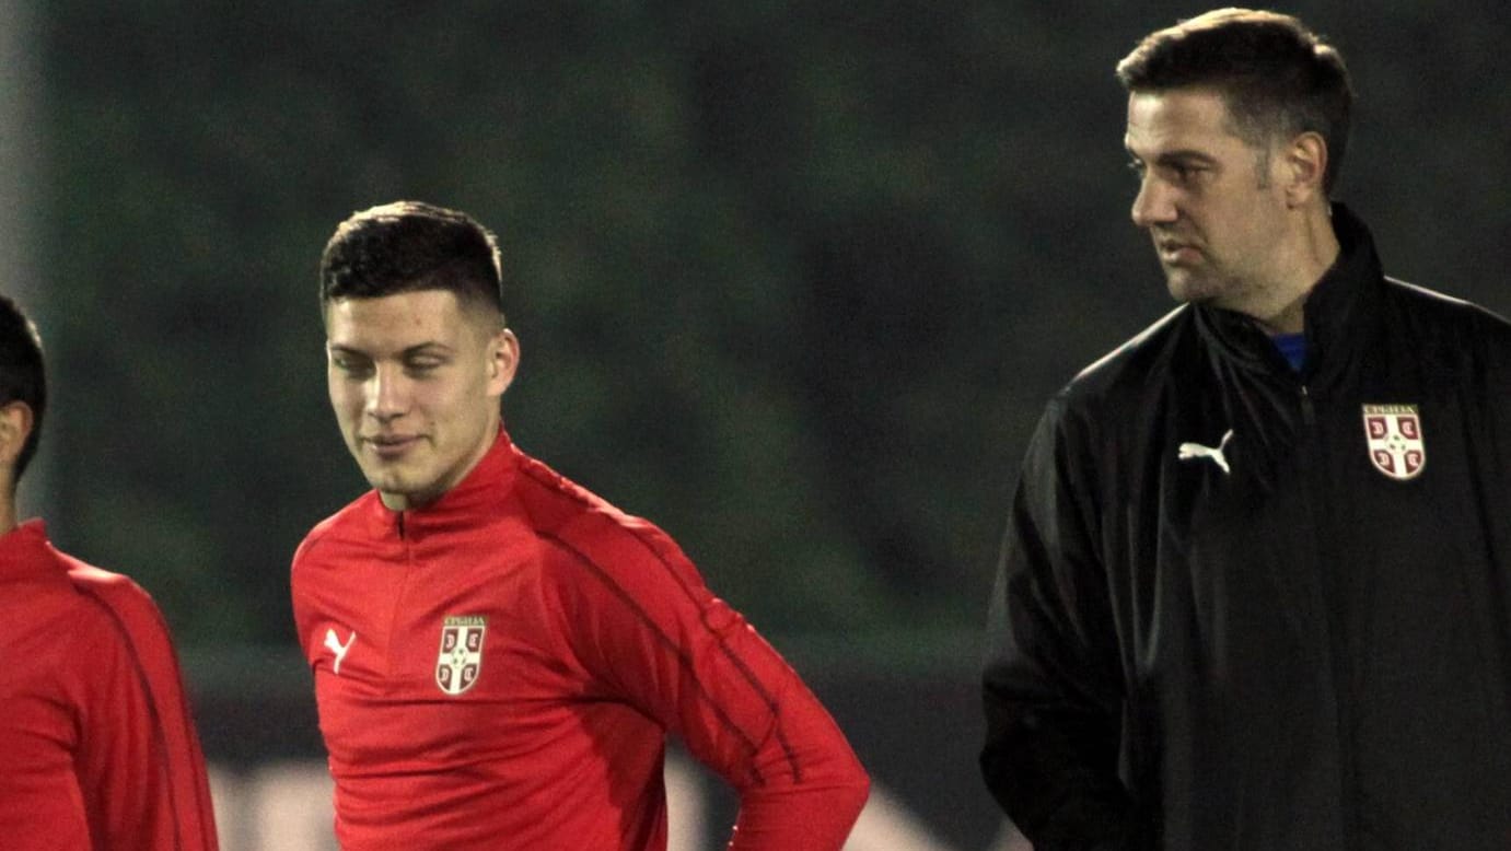
M1002 546L982 676L987 786L1040 851L1132 845L1123 683L1097 546L1094 441L1064 399L1034 434Z

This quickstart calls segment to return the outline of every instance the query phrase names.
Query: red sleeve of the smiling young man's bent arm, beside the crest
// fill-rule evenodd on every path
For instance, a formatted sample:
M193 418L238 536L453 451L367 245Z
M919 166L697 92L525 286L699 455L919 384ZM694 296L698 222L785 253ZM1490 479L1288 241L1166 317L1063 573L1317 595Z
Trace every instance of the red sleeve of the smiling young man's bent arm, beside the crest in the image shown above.
M839 726L665 534L606 538L567 546L583 664L739 792L730 851L839 851L869 791Z

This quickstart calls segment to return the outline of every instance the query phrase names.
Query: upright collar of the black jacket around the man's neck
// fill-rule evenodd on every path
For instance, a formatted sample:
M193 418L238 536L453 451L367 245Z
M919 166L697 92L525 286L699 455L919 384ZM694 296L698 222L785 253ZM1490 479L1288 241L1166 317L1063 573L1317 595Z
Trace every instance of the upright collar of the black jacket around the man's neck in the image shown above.
M1333 204L1339 255L1302 304L1307 367L1302 381L1325 388L1349 375L1370 349L1384 295L1375 240L1343 204ZM1289 372L1274 342L1248 316L1216 307L1195 307L1197 326L1215 358L1247 372Z

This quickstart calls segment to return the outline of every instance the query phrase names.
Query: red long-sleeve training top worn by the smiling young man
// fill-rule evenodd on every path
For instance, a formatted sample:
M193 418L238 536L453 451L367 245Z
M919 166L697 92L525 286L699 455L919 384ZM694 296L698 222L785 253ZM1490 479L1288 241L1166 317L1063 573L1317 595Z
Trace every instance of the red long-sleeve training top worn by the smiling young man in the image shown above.
M293 559L348 851L666 846L666 733L740 797L734 851L837 851L867 778L677 546L500 432L435 503L369 493Z

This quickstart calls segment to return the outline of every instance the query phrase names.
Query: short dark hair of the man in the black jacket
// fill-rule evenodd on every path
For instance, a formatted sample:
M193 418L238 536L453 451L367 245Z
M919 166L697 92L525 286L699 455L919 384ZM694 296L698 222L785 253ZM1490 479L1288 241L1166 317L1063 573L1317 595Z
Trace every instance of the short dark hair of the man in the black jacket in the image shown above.
M1328 153L1322 187L1333 190L1354 91L1339 51L1299 20L1216 9L1150 33L1118 62L1117 74L1129 92L1215 89L1234 135L1253 147L1318 133Z

